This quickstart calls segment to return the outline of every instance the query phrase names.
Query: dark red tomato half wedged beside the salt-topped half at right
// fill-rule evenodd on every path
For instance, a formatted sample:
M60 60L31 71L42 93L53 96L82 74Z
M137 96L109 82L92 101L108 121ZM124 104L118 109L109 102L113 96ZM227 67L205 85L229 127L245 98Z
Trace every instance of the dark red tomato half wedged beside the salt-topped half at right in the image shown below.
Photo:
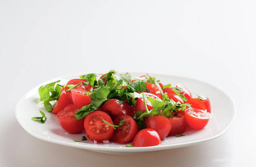
M178 114L173 117L168 118L170 123L172 124L172 129L169 135L180 135L184 133L186 130L186 119L185 116L182 114Z

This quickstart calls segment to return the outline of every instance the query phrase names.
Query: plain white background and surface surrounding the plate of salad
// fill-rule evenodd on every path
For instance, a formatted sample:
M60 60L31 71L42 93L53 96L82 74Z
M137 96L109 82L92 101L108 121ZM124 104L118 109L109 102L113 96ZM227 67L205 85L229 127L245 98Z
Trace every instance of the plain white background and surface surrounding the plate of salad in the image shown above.
M1 0L0 166L253 166L255 9L254 0ZM139 155L48 143L17 123L15 105L33 86L109 69L207 81L233 98L236 119L213 141Z

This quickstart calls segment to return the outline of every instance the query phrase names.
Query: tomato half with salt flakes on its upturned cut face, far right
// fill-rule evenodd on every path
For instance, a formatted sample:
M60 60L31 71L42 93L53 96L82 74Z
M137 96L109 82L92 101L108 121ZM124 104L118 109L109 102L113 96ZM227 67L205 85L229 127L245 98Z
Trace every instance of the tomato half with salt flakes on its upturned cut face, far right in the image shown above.
M201 109L193 108L193 110L190 108L185 109L186 123L193 129L203 129L211 118L210 113Z

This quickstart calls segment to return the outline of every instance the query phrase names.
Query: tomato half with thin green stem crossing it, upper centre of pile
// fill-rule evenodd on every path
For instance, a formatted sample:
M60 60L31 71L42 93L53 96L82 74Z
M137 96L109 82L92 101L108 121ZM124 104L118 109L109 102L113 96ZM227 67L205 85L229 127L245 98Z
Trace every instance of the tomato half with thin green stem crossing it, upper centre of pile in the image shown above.
M158 101L162 101L158 96L156 96L154 94L145 92L144 95L145 95L145 101L146 101L148 110L151 110L153 107L152 107L152 105L151 105L151 103L150 103L150 101L148 100L147 97L154 98L154 99L156 99ZM145 111L146 110L143 99L141 99L141 98L137 99L137 101L136 101L136 109L135 110L136 110L136 112L139 111L139 110L140 111Z

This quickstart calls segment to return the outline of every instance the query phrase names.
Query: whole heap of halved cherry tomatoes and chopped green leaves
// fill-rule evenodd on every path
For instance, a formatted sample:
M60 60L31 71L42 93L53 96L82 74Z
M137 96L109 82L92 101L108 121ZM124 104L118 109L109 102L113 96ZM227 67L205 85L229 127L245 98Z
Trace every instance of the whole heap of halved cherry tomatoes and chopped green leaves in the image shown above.
M149 75L131 79L128 72L115 70L81 75L65 85L60 80L48 83L38 93L65 131L84 130L82 140L126 147L160 145L168 135L183 136L187 126L203 129L211 118L209 98L193 98L182 84L163 85ZM44 123L47 118L40 112L42 117L32 119Z

